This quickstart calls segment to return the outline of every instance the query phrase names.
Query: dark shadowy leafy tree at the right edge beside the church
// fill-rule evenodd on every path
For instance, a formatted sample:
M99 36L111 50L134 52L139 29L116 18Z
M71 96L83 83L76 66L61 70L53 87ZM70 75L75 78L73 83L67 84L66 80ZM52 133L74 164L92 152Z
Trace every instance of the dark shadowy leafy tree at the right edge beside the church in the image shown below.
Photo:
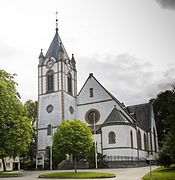
M153 100L155 119L158 129L159 162L169 166L175 163L175 90L167 90Z

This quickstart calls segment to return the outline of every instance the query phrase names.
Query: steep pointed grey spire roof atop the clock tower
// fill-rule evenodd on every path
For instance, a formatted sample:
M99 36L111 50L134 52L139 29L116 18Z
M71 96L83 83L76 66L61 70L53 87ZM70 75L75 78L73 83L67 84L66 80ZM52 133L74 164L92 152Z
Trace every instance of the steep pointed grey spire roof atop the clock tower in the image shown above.
M61 38L58 34L58 30L56 29L55 36L49 46L49 49L47 50L47 53L45 55L45 59L54 57L56 60L58 60L58 53L60 51L60 45L61 45L61 50L64 51L64 57L65 59L69 59L68 54L62 44Z

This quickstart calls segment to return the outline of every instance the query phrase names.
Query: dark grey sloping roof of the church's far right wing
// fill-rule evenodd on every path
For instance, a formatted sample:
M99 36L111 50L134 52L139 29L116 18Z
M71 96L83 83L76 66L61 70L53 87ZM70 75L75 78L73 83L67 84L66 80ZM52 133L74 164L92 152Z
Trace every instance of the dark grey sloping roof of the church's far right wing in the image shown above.
M146 131L151 126L151 103L128 106L126 110L141 124Z

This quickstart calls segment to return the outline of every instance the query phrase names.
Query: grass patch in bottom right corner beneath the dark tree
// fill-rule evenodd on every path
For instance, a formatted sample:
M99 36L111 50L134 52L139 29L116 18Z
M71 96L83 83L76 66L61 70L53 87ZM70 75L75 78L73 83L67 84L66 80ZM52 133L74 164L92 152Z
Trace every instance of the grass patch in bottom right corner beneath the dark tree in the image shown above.
M175 180L175 165L169 168L165 168L161 166L151 171L151 177L150 177L150 173L147 173L142 179L143 180Z

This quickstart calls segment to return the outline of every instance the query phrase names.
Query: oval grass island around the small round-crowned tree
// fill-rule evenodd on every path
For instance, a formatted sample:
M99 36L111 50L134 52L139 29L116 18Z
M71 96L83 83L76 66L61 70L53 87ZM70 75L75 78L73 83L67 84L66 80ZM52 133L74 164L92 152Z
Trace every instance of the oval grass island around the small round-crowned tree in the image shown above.
M88 178L112 178L115 174L99 173L99 172L53 172L40 174L39 178L75 178L75 179L88 179Z

